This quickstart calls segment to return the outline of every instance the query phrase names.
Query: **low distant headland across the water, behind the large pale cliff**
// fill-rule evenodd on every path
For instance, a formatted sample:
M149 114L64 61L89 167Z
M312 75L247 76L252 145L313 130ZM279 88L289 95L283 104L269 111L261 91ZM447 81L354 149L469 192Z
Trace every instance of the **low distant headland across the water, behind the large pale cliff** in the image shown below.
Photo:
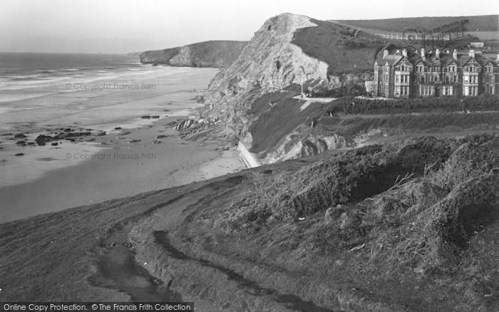
M188 46L140 53L140 63L169 66L227 68L247 41L205 41Z

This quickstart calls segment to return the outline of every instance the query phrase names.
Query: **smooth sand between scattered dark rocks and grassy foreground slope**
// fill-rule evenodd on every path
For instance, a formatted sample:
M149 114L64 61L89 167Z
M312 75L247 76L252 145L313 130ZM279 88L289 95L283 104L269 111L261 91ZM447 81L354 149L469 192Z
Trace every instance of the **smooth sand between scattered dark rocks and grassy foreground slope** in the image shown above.
M127 135L111 132L96 137L94 143L101 144L97 151L76 151L63 160L78 163L48 170L29 182L1 187L2 223L244 169L235 147L220 151L215 150L220 142L182 140L168 126L175 119L163 118L145 127L125 130ZM87 159L81 160L83 157Z

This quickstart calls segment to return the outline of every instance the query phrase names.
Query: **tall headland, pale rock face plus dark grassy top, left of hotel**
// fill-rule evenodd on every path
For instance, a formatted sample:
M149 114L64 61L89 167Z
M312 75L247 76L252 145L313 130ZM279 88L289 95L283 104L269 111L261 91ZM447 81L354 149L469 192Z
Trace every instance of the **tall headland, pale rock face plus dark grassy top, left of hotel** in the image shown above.
M274 110L272 100L261 109L255 109L254 103L269 93L282 93L282 98L292 101L302 82L305 92L330 96L334 92L344 95L364 89L364 81L372 77L372 64L379 48L373 38L358 36L344 26L294 14L274 16L254 33L237 61L212 80L205 96L206 113L224 120L227 128L250 145L255 135L254 121L262 113ZM284 99L280 105L286 105L285 102ZM269 123L283 122L282 115L276 114L269 118ZM267 133L279 132L280 137L274 140L274 146L258 152L278 149L277 141L292 131L284 133L270 127Z

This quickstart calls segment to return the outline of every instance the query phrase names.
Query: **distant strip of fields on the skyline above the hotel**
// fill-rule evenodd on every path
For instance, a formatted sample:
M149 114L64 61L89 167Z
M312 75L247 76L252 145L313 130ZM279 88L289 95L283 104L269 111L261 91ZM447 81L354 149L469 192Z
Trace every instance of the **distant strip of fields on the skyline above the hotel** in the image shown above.
M499 16L425 16L425 17L405 17L398 19L365 19L365 20L338 20L340 24L351 26L379 29L381 31L402 32L405 28L416 28L423 26L426 29L433 29L443 24L449 24L453 21L467 19L468 31L498 31Z

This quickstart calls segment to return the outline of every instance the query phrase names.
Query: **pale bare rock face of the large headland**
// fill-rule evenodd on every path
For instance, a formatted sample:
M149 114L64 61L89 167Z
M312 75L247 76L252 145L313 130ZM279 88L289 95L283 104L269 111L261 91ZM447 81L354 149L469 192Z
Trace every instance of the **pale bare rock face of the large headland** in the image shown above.
M246 128L248 97L299 84L302 79L323 83L328 65L307 56L291 43L294 31L312 26L317 25L309 18L292 14L267 20L254 33L237 61L210 83L206 97L210 113L222 119L239 115L245 125L235 123L235 128Z

